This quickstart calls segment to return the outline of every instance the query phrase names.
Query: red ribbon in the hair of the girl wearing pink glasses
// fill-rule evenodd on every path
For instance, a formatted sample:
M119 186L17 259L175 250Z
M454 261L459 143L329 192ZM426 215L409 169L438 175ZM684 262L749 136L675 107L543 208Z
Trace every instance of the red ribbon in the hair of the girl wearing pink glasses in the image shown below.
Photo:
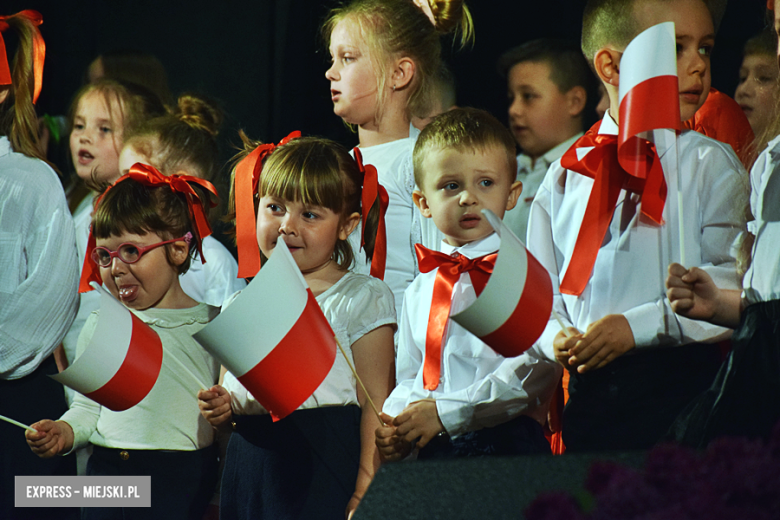
M156 168L148 166L146 164L136 163L134 164L126 175L123 175L117 181L109 186L100 197L95 201L95 208L100 205L100 201L108 193L108 191L116 186L118 183L125 179L133 179L136 182L140 182L149 187L157 186L169 186L174 193L183 193L187 199L187 206L190 210L190 218L192 219L192 225L195 227L196 237L195 243L198 248L198 254L201 261L205 264L206 258L203 256L203 249L201 242L204 238L211 234L211 225L208 218L206 218L206 212L200 202L200 195L190 185L190 183L197 184L206 189L210 193L217 197L217 189L209 181L193 177L191 175L163 175ZM217 203L210 198L210 207L215 207ZM89 285L90 282L103 283L103 278L100 276L100 267L92 261L92 250L95 249L96 241L95 236L92 233L92 228L89 230L89 238L87 239L87 254L84 258L84 266L81 269L81 282L79 284L79 292L88 292L92 290Z

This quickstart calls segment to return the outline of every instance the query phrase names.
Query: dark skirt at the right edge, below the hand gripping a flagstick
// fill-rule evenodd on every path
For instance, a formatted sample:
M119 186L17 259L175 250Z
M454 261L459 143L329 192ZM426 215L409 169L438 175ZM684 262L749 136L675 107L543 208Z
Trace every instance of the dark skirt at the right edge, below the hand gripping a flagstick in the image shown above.
M766 438L780 420L780 300L748 306L731 343L714 382L680 414L671 439L703 448L723 435Z

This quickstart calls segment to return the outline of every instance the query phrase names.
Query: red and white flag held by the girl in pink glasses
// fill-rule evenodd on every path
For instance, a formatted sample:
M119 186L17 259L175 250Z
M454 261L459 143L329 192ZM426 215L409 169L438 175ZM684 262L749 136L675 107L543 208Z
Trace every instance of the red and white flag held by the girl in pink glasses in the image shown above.
M97 283L100 316L84 352L67 369L50 376L115 412L127 410L152 390L162 367L163 348L152 328Z

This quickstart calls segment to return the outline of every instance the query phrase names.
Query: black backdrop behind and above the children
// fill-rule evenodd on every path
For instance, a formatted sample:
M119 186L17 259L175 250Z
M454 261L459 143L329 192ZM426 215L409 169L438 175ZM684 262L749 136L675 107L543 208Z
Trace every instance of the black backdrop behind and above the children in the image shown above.
M325 79L329 55L319 27L335 0L53 1L5 0L2 11L41 12L47 54L41 114L64 114L98 54L134 48L156 55L174 95L199 91L221 101L225 158L238 128L277 141L290 131L357 144L332 113ZM506 86L498 56L543 36L579 40L585 0L471 0L473 48L444 43L458 104L489 110L506 121ZM765 0L731 0L712 58L713 86L733 95L747 38L765 26Z

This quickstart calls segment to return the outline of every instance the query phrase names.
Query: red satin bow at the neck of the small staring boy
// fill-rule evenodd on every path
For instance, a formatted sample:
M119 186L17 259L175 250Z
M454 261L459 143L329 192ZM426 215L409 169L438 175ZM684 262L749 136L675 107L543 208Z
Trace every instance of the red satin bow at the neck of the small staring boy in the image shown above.
M423 364L423 386L426 390L435 390L439 386L441 375L441 350L444 333L450 318L452 306L452 288L462 273L469 273L471 284L477 296L487 285L497 254L478 258L467 258L459 253L446 255L432 251L420 244L414 245L421 273L428 273L437 267L436 280L433 282L431 312L428 315L428 330L425 334L425 362Z

